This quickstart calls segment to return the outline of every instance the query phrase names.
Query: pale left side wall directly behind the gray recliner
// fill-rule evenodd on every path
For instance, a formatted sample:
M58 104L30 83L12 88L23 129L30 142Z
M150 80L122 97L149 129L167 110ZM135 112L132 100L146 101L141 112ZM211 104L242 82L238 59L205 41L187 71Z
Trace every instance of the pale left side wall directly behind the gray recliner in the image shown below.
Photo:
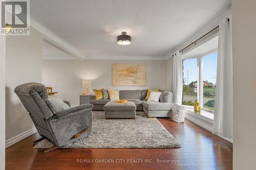
M42 79L42 36L32 27L30 36L6 37L6 140L34 128L14 88Z

